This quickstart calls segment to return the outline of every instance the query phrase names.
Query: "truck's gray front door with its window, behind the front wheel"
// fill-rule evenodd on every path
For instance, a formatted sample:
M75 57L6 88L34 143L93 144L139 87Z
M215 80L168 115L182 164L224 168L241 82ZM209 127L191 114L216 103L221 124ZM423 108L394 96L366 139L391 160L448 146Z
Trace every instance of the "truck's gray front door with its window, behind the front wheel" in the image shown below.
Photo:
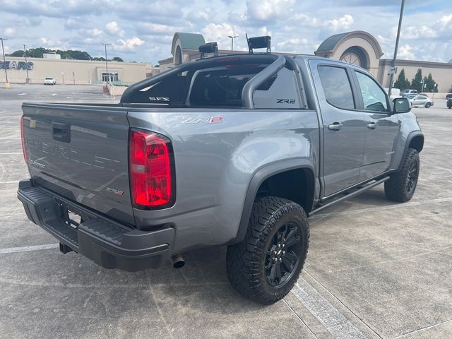
M376 177L389 169L398 137L397 114L391 114L391 105L383 88L367 73L355 70L359 109L366 119L366 148L359 182Z

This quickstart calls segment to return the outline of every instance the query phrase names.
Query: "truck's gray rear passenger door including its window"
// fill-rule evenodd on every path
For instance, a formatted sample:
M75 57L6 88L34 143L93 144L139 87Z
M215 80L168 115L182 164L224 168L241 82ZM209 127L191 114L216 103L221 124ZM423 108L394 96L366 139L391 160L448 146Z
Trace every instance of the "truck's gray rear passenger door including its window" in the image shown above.
M367 126L357 109L350 69L322 62L309 65L323 119L323 196L330 196L357 184Z

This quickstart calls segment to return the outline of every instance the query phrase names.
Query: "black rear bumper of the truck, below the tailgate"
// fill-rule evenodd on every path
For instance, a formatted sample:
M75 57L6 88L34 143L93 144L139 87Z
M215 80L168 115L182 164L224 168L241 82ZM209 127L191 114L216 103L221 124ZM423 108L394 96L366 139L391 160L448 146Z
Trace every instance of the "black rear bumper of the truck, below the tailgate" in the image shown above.
M19 182L18 199L28 219L104 268L158 268L171 257L172 227L150 232L131 229L37 187L30 179ZM78 227L70 224L67 210L83 217Z

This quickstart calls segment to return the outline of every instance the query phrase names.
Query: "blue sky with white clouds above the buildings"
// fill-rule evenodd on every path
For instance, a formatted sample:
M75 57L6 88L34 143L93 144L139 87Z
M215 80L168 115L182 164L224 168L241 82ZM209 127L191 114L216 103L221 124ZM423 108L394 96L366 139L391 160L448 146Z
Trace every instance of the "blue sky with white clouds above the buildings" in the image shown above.
M319 6L321 4L321 6ZM398 0L0 0L0 37L6 52L28 47L81 49L156 64L171 57L174 32L201 32L230 48L227 35L270 35L275 52L312 54L328 36L365 30L379 40L383 58L395 44ZM399 59L452 59L451 0L406 0Z

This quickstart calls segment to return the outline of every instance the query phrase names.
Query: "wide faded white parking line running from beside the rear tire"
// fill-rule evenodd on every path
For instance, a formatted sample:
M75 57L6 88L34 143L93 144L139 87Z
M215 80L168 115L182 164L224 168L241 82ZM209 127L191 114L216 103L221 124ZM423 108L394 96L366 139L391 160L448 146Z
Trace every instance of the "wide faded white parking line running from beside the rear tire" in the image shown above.
M303 278L298 279L292 288L292 294L326 327L334 338L367 338Z

